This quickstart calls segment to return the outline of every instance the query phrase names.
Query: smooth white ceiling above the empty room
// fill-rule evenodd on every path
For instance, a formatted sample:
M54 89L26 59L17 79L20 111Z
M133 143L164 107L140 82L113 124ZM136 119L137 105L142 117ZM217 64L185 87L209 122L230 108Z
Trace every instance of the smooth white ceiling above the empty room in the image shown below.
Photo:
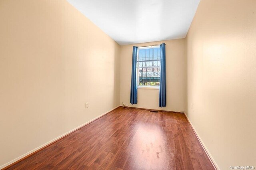
M185 38L200 0L68 0L120 45Z

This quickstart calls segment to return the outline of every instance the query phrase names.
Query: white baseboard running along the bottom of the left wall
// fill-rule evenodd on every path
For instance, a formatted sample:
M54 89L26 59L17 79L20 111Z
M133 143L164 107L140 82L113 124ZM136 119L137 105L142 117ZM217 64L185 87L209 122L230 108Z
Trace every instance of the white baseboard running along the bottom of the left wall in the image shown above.
M116 108L118 108L118 107L120 107L120 106L117 106L117 107L115 107L114 109L116 109ZM10 164L12 164L12 163L14 163L14 162L16 162L16 161L18 161L18 160L24 158L25 156L28 156L29 154L31 154L31 153L33 153L33 152L36 152L36 151L39 150L40 148L42 148L42 147L44 147L44 146L46 146L46 145L48 145L48 144L54 142L55 140L58 140L59 138L62 138L63 136L65 136L65 135L67 135L67 134L69 134L69 133L71 133L71 132L74 132L74 131L77 130L78 128L81 128L81 127L83 127L83 126L85 126L85 125L87 125L87 124L89 124L89 123L95 121L96 119L99 119L100 117L106 115L107 113L113 111L114 109L111 109L110 111L107 111L107 112L103 113L102 115L100 115L100 116L98 116L98 117L96 117L96 118L94 118L94 119L92 119L92 120L90 120L90 121L88 121L88 122L86 122L86 123L84 123L84 124L82 124L82 125L80 125L80 126L74 128L74 129L72 129L72 130L70 130L70 131L68 131L68 132L66 132L66 133L64 133L64 134L62 134L62 135L60 135L60 136L58 136L58 137L56 137L56 138L50 140L49 142L46 142L45 144L43 144L43 145L41 145L41 146L39 146L39 147L37 147L37 148L34 148L33 150L27 152L26 154L23 154L23 155L19 156L18 158L15 158L14 160L11 160L10 162L7 162L6 164L1 165L1 166L0 166L0 169L5 168L6 166L8 166L8 165L10 165Z

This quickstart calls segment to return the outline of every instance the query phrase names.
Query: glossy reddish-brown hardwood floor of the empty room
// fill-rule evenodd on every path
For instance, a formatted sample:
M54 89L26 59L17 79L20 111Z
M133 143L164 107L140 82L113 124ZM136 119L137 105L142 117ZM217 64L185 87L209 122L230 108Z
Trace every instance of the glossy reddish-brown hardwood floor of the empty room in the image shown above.
M212 170L182 113L119 107L9 170Z

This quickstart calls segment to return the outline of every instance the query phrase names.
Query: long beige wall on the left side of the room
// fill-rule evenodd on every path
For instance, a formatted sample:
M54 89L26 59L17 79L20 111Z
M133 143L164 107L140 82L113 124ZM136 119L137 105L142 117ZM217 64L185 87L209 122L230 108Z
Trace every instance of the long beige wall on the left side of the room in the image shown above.
M65 0L1 0L0 167L119 106L119 55Z

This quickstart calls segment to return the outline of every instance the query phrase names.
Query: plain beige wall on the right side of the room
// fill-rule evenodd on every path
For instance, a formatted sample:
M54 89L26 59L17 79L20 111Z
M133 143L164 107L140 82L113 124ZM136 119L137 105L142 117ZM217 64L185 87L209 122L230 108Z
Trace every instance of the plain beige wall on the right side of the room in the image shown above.
M220 169L256 166L256 1L201 0L187 53L186 113L206 148Z

